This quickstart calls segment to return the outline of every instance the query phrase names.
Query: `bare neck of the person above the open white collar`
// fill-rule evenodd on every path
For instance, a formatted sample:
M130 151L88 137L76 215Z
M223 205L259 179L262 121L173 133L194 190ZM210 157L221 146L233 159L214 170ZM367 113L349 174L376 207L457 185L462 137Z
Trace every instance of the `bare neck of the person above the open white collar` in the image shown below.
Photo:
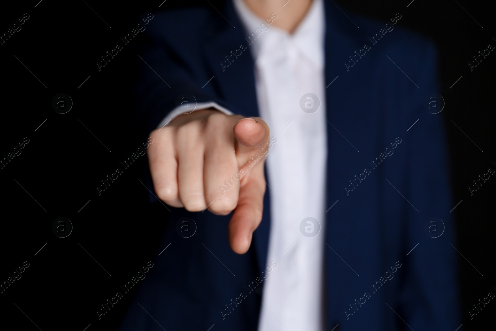
M276 13L274 26L293 33L310 8L312 0L243 0L251 11L261 19ZM283 7L284 6L284 7Z

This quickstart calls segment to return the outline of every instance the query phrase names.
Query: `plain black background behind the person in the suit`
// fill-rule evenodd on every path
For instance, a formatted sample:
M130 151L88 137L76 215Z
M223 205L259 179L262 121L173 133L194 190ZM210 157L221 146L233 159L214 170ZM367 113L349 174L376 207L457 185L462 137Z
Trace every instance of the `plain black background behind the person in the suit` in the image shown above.
M24 137L29 139L22 153L0 170L0 282L24 261L30 264L22 278L0 294L1 324L20 330L38 330L37 326L82 331L90 324L88 331L114 330L135 289L101 320L95 310L138 268L164 258L156 251L162 250L157 246L167 210L160 203L148 204L143 167L138 162L98 195L100 181L143 142L132 123L131 89L135 65L141 61L138 43L125 45L101 71L96 62L146 13L192 1L167 0L160 8L162 0L38 1L2 4L0 11L0 34L24 13L29 14L22 29L0 46L0 158ZM196 2L220 8L219 1ZM491 301L473 320L468 310L488 292L496 293L496 180L491 177L472 196L468 186L488 168L496 169L496 55L491 52L473 71L468 63L488 44L496 45L496 33L489 1L458 2L338 4L347 13L383 21L400 12L398 26L430 37L438 46L453 207L462 200L453 210L457 249L463 254L457 253L463 314L459 330L480 330L494 325L496 304ZM219 15L219 19L223 18ZM66 114L52 108L52 98L58 93L70 95L73 101ZM61 216L73 224L66 238L56 237L51 229Z

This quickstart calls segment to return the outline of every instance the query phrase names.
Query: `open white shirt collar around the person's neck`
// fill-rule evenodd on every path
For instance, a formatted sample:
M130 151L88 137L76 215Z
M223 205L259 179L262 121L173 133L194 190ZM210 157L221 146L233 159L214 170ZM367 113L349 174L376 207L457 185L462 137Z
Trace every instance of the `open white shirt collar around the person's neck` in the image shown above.
M248 48L251 51L253 59L256 60L262 43L264 43L264 34L281 34L288 39L292 39L298 47L313 64L317 67L324 66L324 33L325 33L325 16L322 0L313 0L307 15L300 22L296 30L290 34L282 29L279 29L271 24L268 24L263 19L256 16L245 4L243 0L233 0L235 10L244 25L245 34L248 39ZM278 15L278 13L275 13ZM270 17L267 17L270 18ZM265 24L265 25L260 25ZM268 27L268 30L267 30ZM262 33L253 42L249 39L255 31ZM264 31L265 30L265 31Z

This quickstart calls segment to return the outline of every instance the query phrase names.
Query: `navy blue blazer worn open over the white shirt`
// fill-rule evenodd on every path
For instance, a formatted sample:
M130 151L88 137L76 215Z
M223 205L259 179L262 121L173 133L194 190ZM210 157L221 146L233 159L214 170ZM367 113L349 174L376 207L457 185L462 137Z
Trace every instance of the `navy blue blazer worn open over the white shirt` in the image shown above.
M332 206L319 234L325 236L325 330L453 331L460 325L454 205L442 113L432 114L441 100L429 99L439 93L436 51L399 27L401 13L376 22L348 18L324 2L328 157L322 181L326 210ZM258 116L249 51L225 67L231 51L248 46L245 31L230 0L218 9L225 18L213 7L154 14L144 61L137 60L136 123L143 137L183 93ZM164 208L163 242L121 330L256 330L266 309L263 275L270 276L268 192L244 255L229 246L230 215ZM196 225L189 238L176 231L182 217Z

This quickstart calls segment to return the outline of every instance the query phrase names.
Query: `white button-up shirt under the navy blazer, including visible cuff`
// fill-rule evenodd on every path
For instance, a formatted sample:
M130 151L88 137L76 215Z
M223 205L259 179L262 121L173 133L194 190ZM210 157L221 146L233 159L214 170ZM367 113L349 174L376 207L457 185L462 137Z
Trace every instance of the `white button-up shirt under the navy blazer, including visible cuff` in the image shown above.
M277 267L264 280L258 330L322 331L327 157L323 3L313 0L304 20L289 34L258 18L243 0L233 1L247 38L261 30L261 23L269 27L247 45L255 63L259 115L277 138L266 160L271 200L267 263L275 261ZM318 100L310 96L301 102L307 93ZM310 113L317 101L318 110ZM308 110L305 103L315 108ZM208 107L231 114L215 103L197 104L196 109ZM174 110L159 127L179 114L181 110ZM312 230L311 223L301 226L307 217L320 225L314 237L303 235L305 227ZM318 224L313 226L308 236L317 232Z

